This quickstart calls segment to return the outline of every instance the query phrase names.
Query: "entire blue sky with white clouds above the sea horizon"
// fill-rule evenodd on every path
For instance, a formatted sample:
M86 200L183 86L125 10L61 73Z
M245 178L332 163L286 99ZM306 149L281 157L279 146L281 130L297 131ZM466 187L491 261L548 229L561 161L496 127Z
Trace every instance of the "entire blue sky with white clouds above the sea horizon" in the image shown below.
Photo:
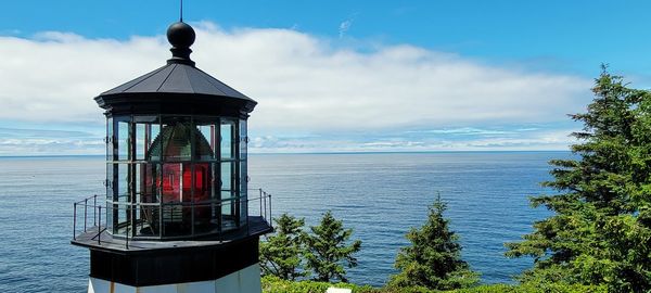
M92 98L165 64L179 1L8 1L0 156L102 154ZM649 1L199 1L196 66L250 151L563 151L608 64L651 87Z

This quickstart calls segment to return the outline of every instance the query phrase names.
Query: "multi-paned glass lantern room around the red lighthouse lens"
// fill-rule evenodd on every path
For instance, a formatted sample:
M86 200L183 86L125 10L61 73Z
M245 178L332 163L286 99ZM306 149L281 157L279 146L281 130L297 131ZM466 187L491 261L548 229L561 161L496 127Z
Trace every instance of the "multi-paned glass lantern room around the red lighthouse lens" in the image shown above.
M213 154L201 157L195 152L195 136L190 135L189 156L166 157L158 154L148 160L157 135L175 122L190 123L210 144ZM243 117L188 114L123 114L106 116L106 231L114 238L174 240L221 234L247 225L247 120ZM229 131L230 130L230 131ZM194 131L194 130L192 130ZM226 132L230 132L227 135ZM226 135L228 137L222 137ZM158 141L158 143L162 143ZM226 144L225 144L226 143ZM228 146L227 146L228 145ZM158 148L163 152L163 146ZM191 168L190 201L165 202L162 184L166 165L178 164L181 170ZM195 168L208 166L207 200L195 201ZM203 168L202 166L202 168ZM229 166L229 167L227 167ZM177 169L178 169L177 168ZM145 181L144 174L155 174L156 183ZM227 174L228 173L228 174ZM183 180L183 178L177 178ZM148 188L153 190L144 190ZM151 199L144 200L144 194ZM181 190L181 199L187 195ZM166 228L173 222L174 211L191 215L180 225L190 229ZM195 221L209 211L209 221ZM187 224L183 224L188 221ZM202 224L200 226L200 224Z

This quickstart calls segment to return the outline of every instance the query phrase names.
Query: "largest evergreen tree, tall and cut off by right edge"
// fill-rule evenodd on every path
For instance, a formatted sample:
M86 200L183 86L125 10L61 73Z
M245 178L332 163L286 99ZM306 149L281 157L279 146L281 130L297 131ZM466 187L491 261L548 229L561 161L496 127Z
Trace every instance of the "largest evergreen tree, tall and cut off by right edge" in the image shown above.
M577 156L553 160L558 194L532 199L554 214L534 224L507 256L535 257L525 282L605 284L612 292L651 290L651 92L605 72L596 79Z

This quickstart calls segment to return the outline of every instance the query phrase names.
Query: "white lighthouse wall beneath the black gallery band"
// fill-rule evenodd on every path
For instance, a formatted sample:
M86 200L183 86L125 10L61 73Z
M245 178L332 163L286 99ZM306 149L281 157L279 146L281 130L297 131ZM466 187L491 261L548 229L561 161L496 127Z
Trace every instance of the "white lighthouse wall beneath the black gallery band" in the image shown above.
M260 266L254 264L216 280L132 286L90 277L88 293L255 293L261 292Z

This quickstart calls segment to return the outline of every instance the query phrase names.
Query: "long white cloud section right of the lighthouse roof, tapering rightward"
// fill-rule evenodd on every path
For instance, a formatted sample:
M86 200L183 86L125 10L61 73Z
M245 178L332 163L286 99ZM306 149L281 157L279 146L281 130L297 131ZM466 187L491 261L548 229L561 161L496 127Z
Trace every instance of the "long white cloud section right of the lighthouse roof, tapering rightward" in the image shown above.
M363 130L566 120L590 80L487 66L411 46L334 49L282 29L200 30L199 66L255 98L252 126Z

